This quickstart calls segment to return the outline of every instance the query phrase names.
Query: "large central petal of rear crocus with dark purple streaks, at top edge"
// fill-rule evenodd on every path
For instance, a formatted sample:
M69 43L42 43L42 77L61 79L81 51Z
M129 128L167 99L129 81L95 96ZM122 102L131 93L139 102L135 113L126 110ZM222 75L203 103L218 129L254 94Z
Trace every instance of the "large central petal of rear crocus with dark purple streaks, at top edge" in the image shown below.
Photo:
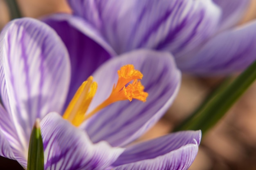
M211 0L69 0L118 54L138 48L190 51L217 29Z

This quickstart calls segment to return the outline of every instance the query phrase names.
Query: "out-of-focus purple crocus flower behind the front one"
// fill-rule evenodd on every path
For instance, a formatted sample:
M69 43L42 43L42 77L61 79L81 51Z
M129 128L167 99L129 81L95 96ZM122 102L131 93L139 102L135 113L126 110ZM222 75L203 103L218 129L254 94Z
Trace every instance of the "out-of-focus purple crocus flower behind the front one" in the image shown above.
M241 71L256 58L256 21L234 27L250 0L68 2L73 15L56 14L45 22L58 32L71 56L75 55L71 46L81 41L93 41L113 55L135 49L168 51L178 68L198 74ZM72 35L63 34L63 29ZM76 44L68 43L72 38Z

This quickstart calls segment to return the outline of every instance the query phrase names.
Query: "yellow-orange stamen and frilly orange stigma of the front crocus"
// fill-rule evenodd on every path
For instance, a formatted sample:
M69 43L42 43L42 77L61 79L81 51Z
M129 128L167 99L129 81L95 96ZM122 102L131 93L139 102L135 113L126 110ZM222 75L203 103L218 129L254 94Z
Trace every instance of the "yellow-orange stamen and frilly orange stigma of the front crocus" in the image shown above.
M63 118L70 121L74 126L79 126L83 121L112 103L121 100L129 100L131 102L132 99L146 102L148 93L144 92L144 86L138 81L138 79L142 79L143 74L135 70L132 64L122 66L117 73L119 79L117 85L114 84L110 96L90 113L87 113L88 107L97 91L97 83L93 82L93 77L90 76L76 91L65 110ZM130 83L131 81L132 83Z

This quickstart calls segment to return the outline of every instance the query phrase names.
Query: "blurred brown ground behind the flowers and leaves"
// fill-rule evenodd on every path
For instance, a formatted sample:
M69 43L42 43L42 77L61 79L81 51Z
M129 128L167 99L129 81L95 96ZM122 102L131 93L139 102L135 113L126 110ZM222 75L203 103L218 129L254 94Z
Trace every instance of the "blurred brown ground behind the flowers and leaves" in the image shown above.
M0 0L0 29L11 20L8 1ZM9 2L8 2L9 3ZM17 0L22 16L71 13L65 0ZM252 0L240 24L256 18ZM166 115L139 140L152 139L170 132L189 116L224 77L183 75L182 86ZM202 139L198 156L189 170L256 170L256 83ZM1 170L22 170L16 161L0 157Z

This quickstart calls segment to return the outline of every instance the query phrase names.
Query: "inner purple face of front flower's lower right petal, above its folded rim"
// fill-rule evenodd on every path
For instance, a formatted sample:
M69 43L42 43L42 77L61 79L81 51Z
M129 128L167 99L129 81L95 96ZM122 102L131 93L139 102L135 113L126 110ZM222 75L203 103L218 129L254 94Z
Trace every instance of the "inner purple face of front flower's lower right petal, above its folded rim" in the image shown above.
M155 157L165 155L173 150L177 150L188 144L199 145L201 140L201 131L183 131L172 133L153 139L150 141L141 142L133 146L129 146L113 163L113 166L119 166L127 163L137 162L144 159L153 159Z

